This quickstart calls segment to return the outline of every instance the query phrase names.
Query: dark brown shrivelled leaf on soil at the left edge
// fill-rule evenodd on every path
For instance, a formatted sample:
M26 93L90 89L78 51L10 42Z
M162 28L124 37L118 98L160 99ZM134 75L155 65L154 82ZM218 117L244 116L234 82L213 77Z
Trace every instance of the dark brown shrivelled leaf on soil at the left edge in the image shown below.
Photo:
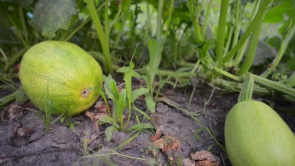
M0 113L0 121L3 122L12 122L15 120L20 120L20 118L23 116L23 111L25 109L19 105L12 104L5 108Z

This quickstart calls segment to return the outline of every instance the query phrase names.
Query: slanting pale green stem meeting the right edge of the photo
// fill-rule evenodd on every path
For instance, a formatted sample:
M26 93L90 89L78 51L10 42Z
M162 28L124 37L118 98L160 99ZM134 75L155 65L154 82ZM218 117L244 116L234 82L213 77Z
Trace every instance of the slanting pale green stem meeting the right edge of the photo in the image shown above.
M276 58L273 60L271 67L268 67L267 70L262 74L262 77L267 78L267 76L279 65L280 60L282 59L284 53L286 52L288 45L295 34L295 23L293 24L290 31L285 35L280 48L279 53Z

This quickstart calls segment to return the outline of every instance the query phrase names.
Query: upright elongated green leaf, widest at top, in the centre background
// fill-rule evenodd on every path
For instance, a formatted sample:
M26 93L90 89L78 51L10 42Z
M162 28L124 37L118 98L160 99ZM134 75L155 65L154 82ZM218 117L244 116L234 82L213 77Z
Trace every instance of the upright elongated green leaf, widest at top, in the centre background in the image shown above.
M148 88L152 89L152 84L156 73L158 72L159 65L162 59L162 50L164 41L157 41L155 39L148 39L149 62L148 62Z

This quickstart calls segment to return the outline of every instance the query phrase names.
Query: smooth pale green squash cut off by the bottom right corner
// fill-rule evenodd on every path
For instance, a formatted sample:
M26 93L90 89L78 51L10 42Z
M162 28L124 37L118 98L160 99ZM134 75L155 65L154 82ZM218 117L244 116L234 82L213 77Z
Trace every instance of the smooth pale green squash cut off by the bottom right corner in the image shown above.
M295 166L295 135L261 101L233 106L225 121L225 145L233 166Z

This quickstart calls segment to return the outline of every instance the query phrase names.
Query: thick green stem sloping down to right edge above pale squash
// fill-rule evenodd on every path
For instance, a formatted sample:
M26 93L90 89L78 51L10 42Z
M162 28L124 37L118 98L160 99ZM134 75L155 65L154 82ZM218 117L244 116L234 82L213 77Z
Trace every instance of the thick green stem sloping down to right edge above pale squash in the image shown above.
M254 78L254 82L258 83L262 86L265 86L267 88L271 88L274 89L276 91L282 92L284 94L287 94L293 98L295 98L295 89L289 86L286 86L284 84L281 83L277 83L271 80L268 80L266 78L260 77L258 75L255 74L251 74Z

